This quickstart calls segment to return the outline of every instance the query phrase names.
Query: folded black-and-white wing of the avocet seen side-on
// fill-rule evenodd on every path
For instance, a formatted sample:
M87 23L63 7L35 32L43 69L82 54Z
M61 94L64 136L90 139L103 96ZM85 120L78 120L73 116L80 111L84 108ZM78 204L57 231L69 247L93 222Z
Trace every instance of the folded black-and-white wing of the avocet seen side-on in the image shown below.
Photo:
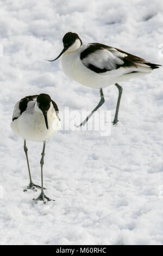
M87 68L96 73L104 73L121 67L131 68L136 71L139 66L147 69L157 69L160 66L146 62L145 59L118 48L98 43L89 44L89 47L80 53L80 59ZM133 72L133 70L130 71Z

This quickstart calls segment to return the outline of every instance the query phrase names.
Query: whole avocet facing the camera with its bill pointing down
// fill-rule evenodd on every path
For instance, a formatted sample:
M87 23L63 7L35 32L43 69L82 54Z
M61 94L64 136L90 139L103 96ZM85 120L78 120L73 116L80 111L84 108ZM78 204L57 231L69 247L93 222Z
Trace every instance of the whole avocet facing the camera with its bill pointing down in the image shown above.
M51 99L48 94L40 94L33 96L26 96L18 101L14 107L12 115L11 129L16 135L24 139L24 152L26 154L28 172L29 172L29 186L27 189L36 190L36 187L41 188L41 194L34 200L49 201L43 191L43 159L45 155L46 141L53 137L56 132L60 130L59 109L57 104ZM43 142L43 150L41 157L41 186L35 185L32 181L26 140ZM24 191L27 191L24 190Z

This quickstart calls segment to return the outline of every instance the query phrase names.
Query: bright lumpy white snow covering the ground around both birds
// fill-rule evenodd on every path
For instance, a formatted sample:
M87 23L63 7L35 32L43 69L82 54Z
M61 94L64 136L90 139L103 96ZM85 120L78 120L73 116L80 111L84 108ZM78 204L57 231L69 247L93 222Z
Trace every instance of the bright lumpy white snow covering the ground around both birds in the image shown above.
M48 93L61 112L97 105L98 90L71 81L60 60L44 60L58 56L68 31L84 43L102 42L162 64L163 3L5 0L0 20L0 243L163 245L162 68L121 83L120 121L109 136L74 129L49 140L44 184L55 202L35 204L39 191L23 192L29 183L23 141L10 129L14 105L26 95ZM105 88L104 96L100 110L110 110L113 120L117 88ZM42 143L27 147L40 184Z

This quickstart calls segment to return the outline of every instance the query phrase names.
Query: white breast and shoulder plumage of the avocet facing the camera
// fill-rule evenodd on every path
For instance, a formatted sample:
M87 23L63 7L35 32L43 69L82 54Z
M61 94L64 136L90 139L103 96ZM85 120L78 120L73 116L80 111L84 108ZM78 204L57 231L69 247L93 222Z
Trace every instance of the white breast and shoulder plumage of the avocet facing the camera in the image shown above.
M43 142L53 137L60 130L59 111L53 106L52 101L47 111L48 129L45 118L37 104L37 96L27 96L18 101L12 115L11 129L23 139ZM20 103L27 102L26 110L21 113Z

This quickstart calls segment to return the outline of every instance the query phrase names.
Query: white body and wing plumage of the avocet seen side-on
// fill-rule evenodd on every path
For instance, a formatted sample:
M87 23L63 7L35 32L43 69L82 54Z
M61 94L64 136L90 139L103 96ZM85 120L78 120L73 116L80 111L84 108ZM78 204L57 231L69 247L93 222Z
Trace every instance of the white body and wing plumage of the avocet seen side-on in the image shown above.
M148 65L140 62L135 63L136 66L121 66L117 69L118 65L124 64L124 57L128 55L115 48L97 50L81 60L82 52L91 45L93 44L82 45L75 51L67 50L61 58L64 73L84 86L96 89L105 88L117 82L149 74L152 71ZM90 66L99 72L93 71ZM100 72L100 70L106 70L106 72Z

